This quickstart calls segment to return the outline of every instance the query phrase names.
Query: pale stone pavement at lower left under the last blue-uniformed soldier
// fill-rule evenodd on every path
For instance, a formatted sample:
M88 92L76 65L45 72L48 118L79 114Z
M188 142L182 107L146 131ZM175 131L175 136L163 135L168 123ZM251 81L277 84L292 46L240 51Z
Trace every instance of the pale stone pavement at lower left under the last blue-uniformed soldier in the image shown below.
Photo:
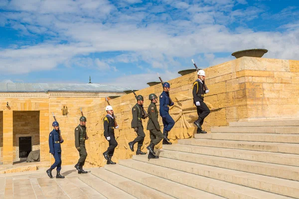
M0 174L0 199L105 199L78 179L72 165L62 166L65 179L56 179L56 170L50 179L46 170Z

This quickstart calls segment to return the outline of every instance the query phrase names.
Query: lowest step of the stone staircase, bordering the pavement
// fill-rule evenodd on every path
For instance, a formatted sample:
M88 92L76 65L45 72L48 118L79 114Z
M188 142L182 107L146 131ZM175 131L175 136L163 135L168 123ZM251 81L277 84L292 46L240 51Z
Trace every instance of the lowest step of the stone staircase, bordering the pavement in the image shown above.
M95 169L92 169L92 172L93 170ZM124 192L123 190L116 188L115 186L103 181L102 179L92 174L82 174L78 176L81 181L83 181L85 184L89 185L91 188L105 196L107 199L136 199L130 194Z

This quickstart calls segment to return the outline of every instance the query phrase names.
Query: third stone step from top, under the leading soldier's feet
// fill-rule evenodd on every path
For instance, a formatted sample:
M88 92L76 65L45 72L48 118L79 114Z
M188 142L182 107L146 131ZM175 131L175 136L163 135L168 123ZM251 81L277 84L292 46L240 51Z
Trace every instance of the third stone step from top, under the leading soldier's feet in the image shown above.
M207 133L194 134L196 139L238 140L255 142L299 143L299 134L267 134L267 133Z

